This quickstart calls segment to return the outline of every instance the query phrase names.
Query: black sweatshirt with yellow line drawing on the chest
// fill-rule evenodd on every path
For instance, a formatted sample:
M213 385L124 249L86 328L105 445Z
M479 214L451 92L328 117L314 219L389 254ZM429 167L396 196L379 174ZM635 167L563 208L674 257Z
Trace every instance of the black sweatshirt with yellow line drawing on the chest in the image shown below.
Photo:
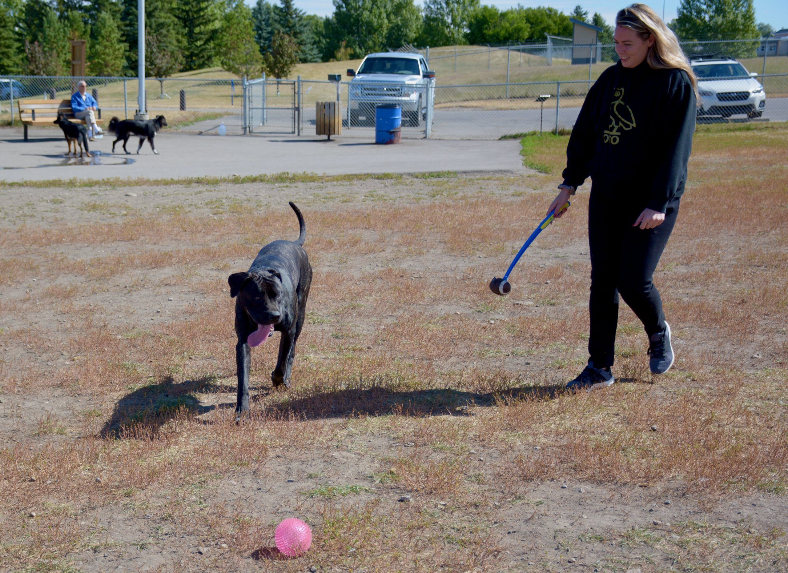
M684 192L696 105L684 70L611 65L585 96L563 183L590 175L597 192L664 213Z

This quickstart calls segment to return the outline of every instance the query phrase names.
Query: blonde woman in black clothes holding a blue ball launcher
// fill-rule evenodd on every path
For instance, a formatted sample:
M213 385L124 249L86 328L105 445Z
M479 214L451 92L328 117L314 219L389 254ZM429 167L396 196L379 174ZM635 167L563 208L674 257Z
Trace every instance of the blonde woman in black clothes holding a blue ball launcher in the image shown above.
M548 209L565 204L591 177L590 357L568 389L615 381L619 295L645 326L652 373L667 372L675 359L652 275L686 185L697 80L676 36L645 4L619 11L613 41L619 61L585 97L563 183Z

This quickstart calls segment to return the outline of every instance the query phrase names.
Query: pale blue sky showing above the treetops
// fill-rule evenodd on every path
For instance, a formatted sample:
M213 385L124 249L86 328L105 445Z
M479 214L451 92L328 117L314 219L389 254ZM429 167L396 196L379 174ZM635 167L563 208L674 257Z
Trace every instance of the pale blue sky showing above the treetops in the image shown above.
M273 0L276 2L276 0ZM422 5L422 0L414 0L416 4ZM580 4L583 9L588 10L589 14L598 12L602 14L605 20L610 24L615 20L615 13L622 9L627 4L634 0L623 0L614 2L613 0L595 0L594 2L587 2L584 0L552 0L552 2L521 2L523 6L552 6L559 9L561 12L570 13L574 6ZM676 17L676 9L679 5L679 0L663 0L665 2L665 20L670 21ZM247 4L254 5L255 0L246 0ZM482 4L492 4L500 9L507 9L517 6L517 0L513 2L500 2L500 0L481 0ZM655 3L649 3L656 13L662 15L662 2L656 0ZM330 16L334 11L334 6L331 0L296 0L296 6L308 14L318 14L318 16ZM788 28L788 4L786 0L755 0L755 17L758 22L765 22L771 24L775 30L780 28Z

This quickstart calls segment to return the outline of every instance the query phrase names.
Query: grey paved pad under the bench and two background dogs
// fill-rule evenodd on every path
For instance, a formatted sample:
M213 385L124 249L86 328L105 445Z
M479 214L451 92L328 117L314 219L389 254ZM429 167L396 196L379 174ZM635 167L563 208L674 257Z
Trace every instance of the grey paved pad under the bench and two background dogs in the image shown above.
M24 141L20 128L0 129L0 180L148 179L229 177L269 173L424 173L429 171L517 172L522 166L519 140L447 141L403 140L375 145L359 138L293 136L195 136L160 133L154 155L145 143L136 154L138 139L111 153L114 137L91 142L92 160L66 158L59 132L31 129Z

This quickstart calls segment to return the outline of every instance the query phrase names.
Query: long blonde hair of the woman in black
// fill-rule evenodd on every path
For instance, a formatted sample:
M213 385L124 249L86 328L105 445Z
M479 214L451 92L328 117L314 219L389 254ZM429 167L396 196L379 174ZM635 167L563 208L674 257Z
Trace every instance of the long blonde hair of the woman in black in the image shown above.
M646 56L649 66L652 69L683 69L689 76L697 97L697 77L692 71L692 65L689 64L682 47L678 45L676 35L667 28L654 10L645 4L630 4L616 14L615 25L634 30L644 40L652 37L654 45Z

